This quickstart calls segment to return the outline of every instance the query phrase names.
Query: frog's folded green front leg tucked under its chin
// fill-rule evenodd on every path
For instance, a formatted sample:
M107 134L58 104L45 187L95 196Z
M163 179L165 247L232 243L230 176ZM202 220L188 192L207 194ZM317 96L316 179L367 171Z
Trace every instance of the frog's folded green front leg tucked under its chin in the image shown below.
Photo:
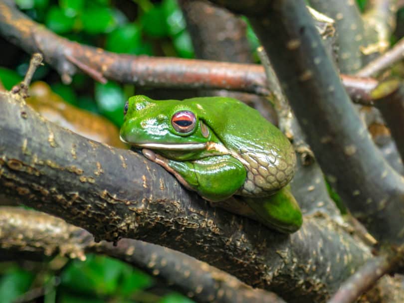
M174 174L185 187L197 191L209 201L221 201L232 196L245 181L243 164L230 155L175 161L150 150L142 152L149 160Z

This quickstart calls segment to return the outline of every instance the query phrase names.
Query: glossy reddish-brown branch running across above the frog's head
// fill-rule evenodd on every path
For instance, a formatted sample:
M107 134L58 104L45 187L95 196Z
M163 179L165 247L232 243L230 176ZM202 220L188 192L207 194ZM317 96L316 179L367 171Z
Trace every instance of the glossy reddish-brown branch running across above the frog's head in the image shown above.
M254 1L250 2L248 5ZM260 65L118 55L62 38L32 21L5 0L0 0L0 34L28 53L43 53L45 61L60 73L65 82L81 69L97 81L107 78L148 87L227 89L264 96L270 94L266 88L264 69Z

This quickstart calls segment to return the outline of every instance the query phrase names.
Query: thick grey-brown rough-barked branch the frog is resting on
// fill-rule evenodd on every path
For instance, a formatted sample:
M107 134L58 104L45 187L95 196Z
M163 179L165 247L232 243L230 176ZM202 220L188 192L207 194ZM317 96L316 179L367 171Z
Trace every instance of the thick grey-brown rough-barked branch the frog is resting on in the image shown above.
M306 217L301 230L286 236L212 208L143 156L77 136L4 94L0 128L0 191L98 240L170 247L307 302L328 297L369 257L327 218Z

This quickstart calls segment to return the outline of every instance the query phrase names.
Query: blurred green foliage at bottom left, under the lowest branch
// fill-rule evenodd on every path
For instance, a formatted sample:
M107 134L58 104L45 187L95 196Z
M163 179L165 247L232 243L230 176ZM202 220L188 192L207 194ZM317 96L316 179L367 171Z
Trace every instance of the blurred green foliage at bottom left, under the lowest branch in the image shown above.
M27 300L34 293L32 290L39 295L38 302L45 303L193 302L173 292L166 291L162 295L148 292L156 286L153 278L112 258L87 255L86 261L72 260L60 271L52 269L51 263L44 263L40 270L0 263L1 303L36 302ZM31 298L36 299L35 296Z

